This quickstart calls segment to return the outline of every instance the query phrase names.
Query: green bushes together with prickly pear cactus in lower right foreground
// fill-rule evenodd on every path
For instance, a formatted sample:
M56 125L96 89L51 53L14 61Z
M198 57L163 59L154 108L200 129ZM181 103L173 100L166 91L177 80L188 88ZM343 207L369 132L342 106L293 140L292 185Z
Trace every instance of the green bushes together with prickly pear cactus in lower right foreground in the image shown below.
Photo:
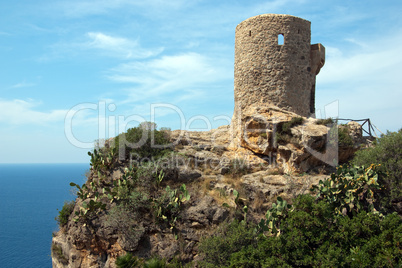
M222 225L202 241L201 267L394 267L402 262L402 221L374 208L381 189L375 166L340 167L275 214L279 232L252 222ZM273 208L276 208L273 206ZM266 214L271 218L271 211ZM267 229L268 230L268 229ZM272 230L272 229L271 229ZM271 231L270 230L270 231Z

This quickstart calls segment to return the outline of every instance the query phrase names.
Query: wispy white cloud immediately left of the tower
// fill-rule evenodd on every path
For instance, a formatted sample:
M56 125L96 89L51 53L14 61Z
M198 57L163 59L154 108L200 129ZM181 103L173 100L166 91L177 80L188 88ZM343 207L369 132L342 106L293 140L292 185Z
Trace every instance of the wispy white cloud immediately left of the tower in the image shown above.
M111 80L135 84L130 87L128 102L178 92L181 98L188 94L196 97L202 91L206 91L205 87L233 78L232 68L228 68L226 62L197 53L121 64L111 72L109 75Z

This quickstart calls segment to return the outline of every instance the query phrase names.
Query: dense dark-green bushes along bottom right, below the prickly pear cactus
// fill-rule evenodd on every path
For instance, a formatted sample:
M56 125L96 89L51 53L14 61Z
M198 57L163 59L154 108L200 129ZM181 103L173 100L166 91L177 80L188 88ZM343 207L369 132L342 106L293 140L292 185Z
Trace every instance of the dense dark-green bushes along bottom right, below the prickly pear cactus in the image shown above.
M201 243L201 267L397 267L402 262L402 221L361 211L333 213L324 200L298 196L279 236L259 236L232 223Z

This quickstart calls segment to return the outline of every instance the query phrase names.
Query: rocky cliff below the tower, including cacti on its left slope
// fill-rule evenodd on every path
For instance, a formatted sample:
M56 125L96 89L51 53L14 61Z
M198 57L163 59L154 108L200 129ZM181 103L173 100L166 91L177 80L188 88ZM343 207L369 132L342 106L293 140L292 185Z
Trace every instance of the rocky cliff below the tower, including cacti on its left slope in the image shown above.
M247 219L257 222L277 196L290 201L308 192L333 169L332 160L346 161L365 144L353 122L323 125L275 107L259 114L265 119L245 117L249 123L237 141L230 126L172 131L173 150L157 164L147 161L148 169L139 159L92 165L87 182L75 186L67 224L53 237L53 267L116 267L126 252L196 263L203 237L243 217L240 203L249 208ZM336 139L336 155L331 129L348 137L339 147Z

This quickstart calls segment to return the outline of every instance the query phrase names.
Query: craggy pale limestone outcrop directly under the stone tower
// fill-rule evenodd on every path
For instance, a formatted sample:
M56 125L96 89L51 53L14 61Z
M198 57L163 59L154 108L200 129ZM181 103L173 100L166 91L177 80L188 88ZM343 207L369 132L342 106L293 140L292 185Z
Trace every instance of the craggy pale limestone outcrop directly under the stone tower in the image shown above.
M317 124L314 118L302 117L272 105L248 107L237 116L237 120L232 125L235 138L229 148L248 149L285 172L307 172L323 165L335 166L350 159L359 145L366 142L362 137L362 127L356 122L340 126L348 129L353 144L339 146L336 124Z

